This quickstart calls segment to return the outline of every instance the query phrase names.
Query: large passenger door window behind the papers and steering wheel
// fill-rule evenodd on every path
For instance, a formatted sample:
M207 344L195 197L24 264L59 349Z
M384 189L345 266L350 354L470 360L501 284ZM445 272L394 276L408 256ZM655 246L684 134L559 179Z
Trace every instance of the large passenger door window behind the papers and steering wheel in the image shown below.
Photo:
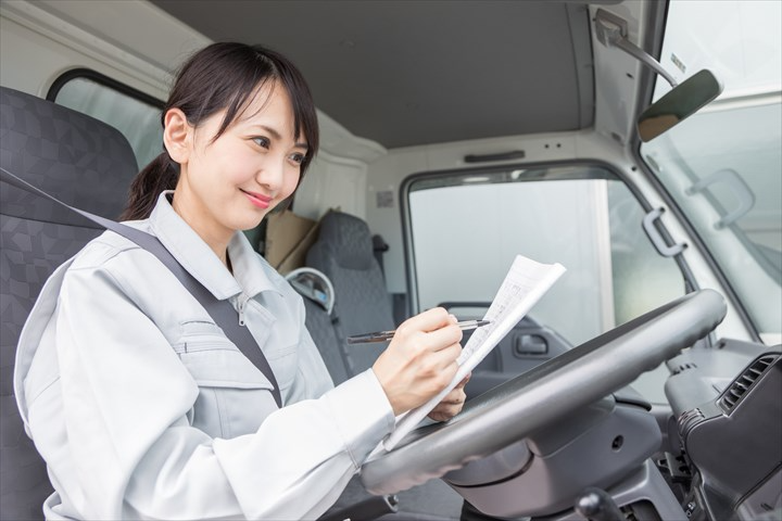
M643 232L639 201L603 167L422 175L405 189L418 309L490 302L516 254L567 268L530 316L573 345L685 292Z

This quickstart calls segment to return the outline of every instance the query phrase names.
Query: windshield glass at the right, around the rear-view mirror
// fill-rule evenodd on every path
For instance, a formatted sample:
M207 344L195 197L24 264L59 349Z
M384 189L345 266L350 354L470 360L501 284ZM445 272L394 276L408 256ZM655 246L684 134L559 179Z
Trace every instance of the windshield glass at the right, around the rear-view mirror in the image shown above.
M641 147L767 344L782 339L782 2L670 2L660 63L723 93ZM670 90L658 78L654 99Z

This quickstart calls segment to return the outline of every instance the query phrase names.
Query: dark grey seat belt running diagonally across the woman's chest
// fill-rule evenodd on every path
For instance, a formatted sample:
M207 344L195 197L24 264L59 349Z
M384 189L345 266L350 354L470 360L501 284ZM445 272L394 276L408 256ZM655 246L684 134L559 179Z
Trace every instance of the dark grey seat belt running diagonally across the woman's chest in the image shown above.
M266 360L263 351L261 351L261 347L257 345L257 342L255 342L255 339L253 339L250 333L250 330L239 323L239 317L236 309L234 309L234 306L231 306L227 300L220 301L216 298L201 282L190 275L190 272L188 272L176 258L174 258L171 252L166 250L162 242L160 242L160 239L147 233L146 231L141 231L130 226L115 223L111 219L70 206L59 199L49 195L43 190L34 187L24 179L18 178L1 166L0 179L34 195L48 199L49 201L64 206L65 208L86 217L100 227L118 233L129 241L135 242L157 257L157 259L163 263L163 265L167 267L177 279L179 279L179 282L181 282L185 289L187 289L204 307L204 309L206 309L206 313L212 317L215 323L219 326L225 335L228 336L228 340L234 342L234 344L239 347L239 351L249 358L250 361L252 361L253 365L261 370L261 372L263 372L266 379L268 379L272 383L272 395L277 403L277 407L282 407L279 385L277 384L277 379L272 371L272 367L269 366L268 360Z

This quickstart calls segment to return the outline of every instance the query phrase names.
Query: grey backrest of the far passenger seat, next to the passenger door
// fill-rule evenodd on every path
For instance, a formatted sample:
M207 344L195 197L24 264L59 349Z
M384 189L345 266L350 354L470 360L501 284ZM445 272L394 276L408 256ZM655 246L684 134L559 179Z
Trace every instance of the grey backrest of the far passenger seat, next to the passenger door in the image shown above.
M394 329L391 297L375 258L367 224L350 214L328 212L306 264L331 279L337 298L335 323L352 374L371 367L386 344L345 344L349 335Z

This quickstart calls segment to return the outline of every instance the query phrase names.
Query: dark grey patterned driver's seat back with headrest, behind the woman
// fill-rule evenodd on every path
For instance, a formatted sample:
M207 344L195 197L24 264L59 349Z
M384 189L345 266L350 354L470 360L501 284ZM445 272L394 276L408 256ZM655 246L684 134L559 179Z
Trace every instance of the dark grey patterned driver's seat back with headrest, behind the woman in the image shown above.
M61 201L116 219L137 173L113 127L0 87L0 166ZM0 519L41 519L52 487L13 392L16 343L43 282L101 233L83 217L0 183Z

